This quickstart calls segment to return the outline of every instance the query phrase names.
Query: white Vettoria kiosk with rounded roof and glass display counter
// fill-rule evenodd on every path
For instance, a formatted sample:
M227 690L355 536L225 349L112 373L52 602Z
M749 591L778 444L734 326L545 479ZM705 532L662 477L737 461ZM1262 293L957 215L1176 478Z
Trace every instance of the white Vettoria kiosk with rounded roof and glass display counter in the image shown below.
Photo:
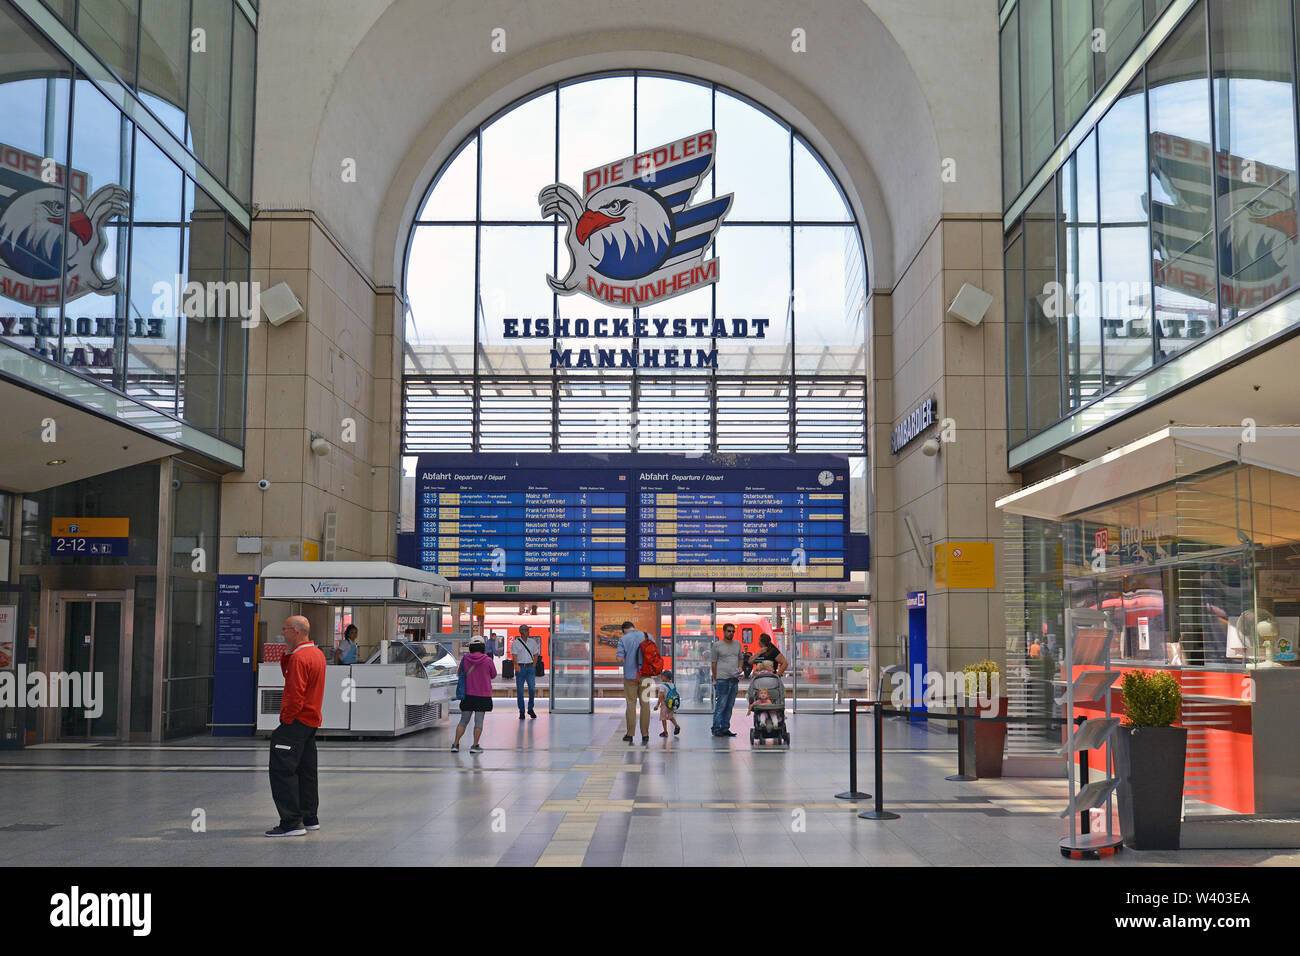
M365 663L325 667L321 736L400 736L448 714L456 658L439 641L404 640L411 631L441 632L442 613L451 606L446 580L386 562L280 561L265 567L261 585L264 601L384 607L380 649ZM280 665L260 663L259 734L278 726L283 691Z

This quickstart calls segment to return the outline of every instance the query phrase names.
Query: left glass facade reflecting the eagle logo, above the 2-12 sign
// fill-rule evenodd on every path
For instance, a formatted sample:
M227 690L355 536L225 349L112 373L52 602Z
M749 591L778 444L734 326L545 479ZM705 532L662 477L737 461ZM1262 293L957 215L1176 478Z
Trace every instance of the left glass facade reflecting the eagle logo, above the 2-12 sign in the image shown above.
M92 57L0 3L0 339L242 445L256 31L234 0L47 5Z

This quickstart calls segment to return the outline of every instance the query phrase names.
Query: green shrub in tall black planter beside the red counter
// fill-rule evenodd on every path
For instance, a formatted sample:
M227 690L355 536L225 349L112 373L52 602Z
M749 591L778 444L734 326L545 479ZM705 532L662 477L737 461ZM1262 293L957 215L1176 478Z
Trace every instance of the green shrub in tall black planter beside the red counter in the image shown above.
M1183 692L1167 671L1128 671L1115 731L1119 829L1134 849L1178 849L1187 728L1174 727Z

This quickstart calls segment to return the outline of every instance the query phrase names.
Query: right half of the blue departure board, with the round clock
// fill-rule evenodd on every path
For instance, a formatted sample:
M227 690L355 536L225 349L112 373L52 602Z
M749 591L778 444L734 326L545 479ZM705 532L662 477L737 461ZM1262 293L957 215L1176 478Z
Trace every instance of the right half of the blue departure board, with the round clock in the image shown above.
M640 579L848 578L842 464L641 467L636 492Z

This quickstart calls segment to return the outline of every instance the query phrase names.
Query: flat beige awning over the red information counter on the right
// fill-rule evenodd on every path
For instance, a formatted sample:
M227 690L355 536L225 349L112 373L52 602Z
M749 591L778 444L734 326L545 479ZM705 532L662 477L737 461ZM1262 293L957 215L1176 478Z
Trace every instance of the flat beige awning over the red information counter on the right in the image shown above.
M1300 425L1171 425L998 498L997 507L1061 520L1226 460L1300 476Z

